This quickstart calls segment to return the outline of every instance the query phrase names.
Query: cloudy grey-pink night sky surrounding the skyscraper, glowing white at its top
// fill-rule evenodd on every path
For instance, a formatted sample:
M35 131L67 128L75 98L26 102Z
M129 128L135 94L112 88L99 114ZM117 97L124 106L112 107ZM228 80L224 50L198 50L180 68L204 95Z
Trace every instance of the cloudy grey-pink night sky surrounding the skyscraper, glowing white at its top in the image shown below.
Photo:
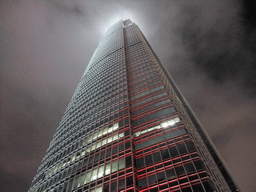
M28 190L95 48L122 18L144 32L240 189L255 191L255 6L249 0L1 0L0 191Z

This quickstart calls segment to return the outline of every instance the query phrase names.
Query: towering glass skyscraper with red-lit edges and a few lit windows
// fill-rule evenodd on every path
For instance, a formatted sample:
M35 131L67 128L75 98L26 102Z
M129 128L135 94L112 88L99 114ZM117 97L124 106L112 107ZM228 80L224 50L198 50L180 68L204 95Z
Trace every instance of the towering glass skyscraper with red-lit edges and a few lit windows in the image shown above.
M95 50L29 192L238 191L140 29Z

